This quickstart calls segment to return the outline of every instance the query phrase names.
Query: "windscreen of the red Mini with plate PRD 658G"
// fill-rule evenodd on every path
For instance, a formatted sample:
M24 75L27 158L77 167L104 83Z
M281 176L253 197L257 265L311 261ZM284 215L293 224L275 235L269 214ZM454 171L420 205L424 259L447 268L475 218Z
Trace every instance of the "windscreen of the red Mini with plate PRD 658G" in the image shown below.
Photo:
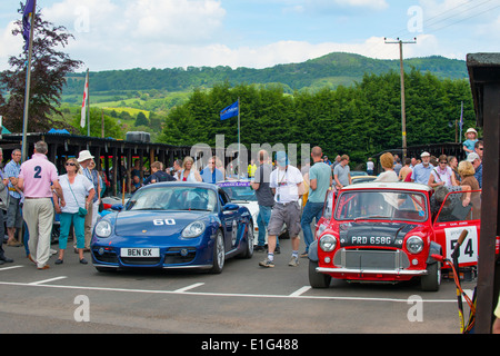
M334 218L426 221L426 201L423 194L412 191L344 191L336 204Z

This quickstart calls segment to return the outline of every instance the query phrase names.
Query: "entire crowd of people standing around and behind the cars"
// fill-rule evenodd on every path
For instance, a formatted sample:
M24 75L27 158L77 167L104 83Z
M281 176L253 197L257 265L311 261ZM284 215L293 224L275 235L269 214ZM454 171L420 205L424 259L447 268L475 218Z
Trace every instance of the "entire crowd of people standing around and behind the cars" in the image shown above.
M467 159L461 162L456 157L432 157L429 152L422 152L419 159L407 158L401 164L397 155L386 152L380 157L382 171L374 180L419 182L429 185L436 191L446 189L446 192L481 189L483 142L478 140L474 129L469 129L466 137L463 150ZM0 149L0 159L2 158ZM88 264L83 253L90 250L91 231L108 181L106 175L97 171L93 158L89 150L82 150L78 157L66 161L66 175L58 175L56 166L47 158L47 144L39 141L34 145L31 159L21 165L21 151L14 149L10 161L0 170L0 207L7 212L4 224L0 225L2 228L3 225L7 226L7 246L24 245L28 258L39 269L49 268L47 261L50 254L57 253L50 248L53 214L58 214L60 218L56 264L63 263L71 226L76 237L74 253L79 254L81 264ZM297 266L299 257L308 256L309 246L313 241L311 222L321 218L328 189L341 189L352 184L349 156L338 155L330 161L317 146L311 150L312 164L302 167L292 166L284 151L277 152L272 160L266 150L261 150L257 160L258 164L252 160L248 165L247 177L251 180L259 204L256 251L267 250L267 258L259 265L274 266L274 254L280 253L278 237L284 225L292 245L289 265ZM373 175L373 170L374 162L370 158L367 172ZM210 157L207 167L202 169L197 169L191 157L177 159L167 169L162 162L154 161L146 178L146 169L136 160L129 172L132 192L142 186L160 181L216 184L230 176L217 156ZM442 191L437 196L443 196ZM473 202L478 196L468 194L463 204ZM299 201L302 201L302 206ZM3 220L2 214L0 218ZM27 233L21 237L23 224ZM300 231L304 239L304 250L301 254ZM12 259L6 256L1 245L0 264L11 263Z

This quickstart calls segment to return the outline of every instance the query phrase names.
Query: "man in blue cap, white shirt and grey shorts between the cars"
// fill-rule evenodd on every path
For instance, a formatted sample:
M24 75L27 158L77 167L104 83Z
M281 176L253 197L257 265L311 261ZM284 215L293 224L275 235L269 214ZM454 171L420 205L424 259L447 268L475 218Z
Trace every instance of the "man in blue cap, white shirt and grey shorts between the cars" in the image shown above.
M274 267L276 237L286 224L292 244L292 256L288 265L296 267L299 265L299 198L303 195L303 178L300 170L289 164L286 152L278 151L276 161L278 168L271 172L269 181L276 204L268 225L268 257L259 266Z

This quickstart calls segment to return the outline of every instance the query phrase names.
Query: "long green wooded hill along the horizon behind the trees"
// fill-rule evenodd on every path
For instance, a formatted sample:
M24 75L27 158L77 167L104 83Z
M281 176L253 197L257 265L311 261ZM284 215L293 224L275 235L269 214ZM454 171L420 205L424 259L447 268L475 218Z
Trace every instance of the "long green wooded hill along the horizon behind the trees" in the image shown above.
M443 57L404 60L412 68L430 71L440 78L468 78L466 61ZM129 69L90 72L91 100L121 101L150 91L151 97L164 98L173 92L190 92L193 88L211 88L223 81L237 83L280 83L288 92L302 89L337 88L360 81L364 73L381 75L399 71L399 60L372 59L353 53L333 52L301 63L278 65L264 69L230 67L188 67L166 69ZM78 103L83 90L84 73L72 73L64 88L64 101ZM179 97L177 97L179 98Z

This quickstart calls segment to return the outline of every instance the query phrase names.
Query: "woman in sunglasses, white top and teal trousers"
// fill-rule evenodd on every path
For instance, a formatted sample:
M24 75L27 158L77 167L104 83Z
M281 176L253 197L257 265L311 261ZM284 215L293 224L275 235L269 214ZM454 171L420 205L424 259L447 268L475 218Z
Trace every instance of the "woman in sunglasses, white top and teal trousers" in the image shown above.
M66 205L60 205L58 195L53 195L56 212L60 214L60 235L59 235L59 256L56 265L61 265L64 258L64 250L68 246L68 235L71 222L74 226L74 235L77 238L77 248L80 257L80 264L87 265L83 258L83 248L86 245L84 222L86 216L79 210L84 208L92 209L92 200L96 195L93 184L86 176L79 175L80 164L76 158L70 158L66 162L66 175L59 176L59 184L62 194L66 197Z

